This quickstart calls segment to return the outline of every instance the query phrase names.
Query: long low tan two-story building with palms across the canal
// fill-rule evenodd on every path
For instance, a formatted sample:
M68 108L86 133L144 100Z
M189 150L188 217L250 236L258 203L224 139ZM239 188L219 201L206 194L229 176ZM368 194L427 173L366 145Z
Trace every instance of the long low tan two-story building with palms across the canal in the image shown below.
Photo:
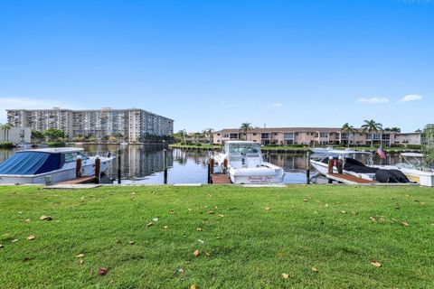
M306 145L328 145L328 144L373 144L391 145L395 144L395 138L406 139L410 134L398 134L390 131L378 131L373 134L364 133L361 128L356 133L345 133L338 127L269 127L253 128L248 131L241 129L222 129L213 133L214 144L224 144L230 140L247 140L259 144L306 144ZM401 136L404 135L404 136ZM417 135L403 144L420 144Z

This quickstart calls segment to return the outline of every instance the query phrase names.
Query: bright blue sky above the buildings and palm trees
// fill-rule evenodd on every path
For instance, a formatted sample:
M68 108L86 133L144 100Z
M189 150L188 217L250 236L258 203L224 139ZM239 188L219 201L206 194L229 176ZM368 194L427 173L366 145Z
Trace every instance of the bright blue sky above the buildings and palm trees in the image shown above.
M206 127L434 122L434 2L0 1L5 108Z

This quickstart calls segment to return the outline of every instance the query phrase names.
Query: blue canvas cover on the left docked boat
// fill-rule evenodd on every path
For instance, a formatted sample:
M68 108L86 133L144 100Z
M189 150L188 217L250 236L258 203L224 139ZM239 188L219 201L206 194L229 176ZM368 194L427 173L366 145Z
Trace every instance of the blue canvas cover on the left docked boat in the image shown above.
M16 152L0 163L0 174L34 175L61 168L61 154L38 151Z

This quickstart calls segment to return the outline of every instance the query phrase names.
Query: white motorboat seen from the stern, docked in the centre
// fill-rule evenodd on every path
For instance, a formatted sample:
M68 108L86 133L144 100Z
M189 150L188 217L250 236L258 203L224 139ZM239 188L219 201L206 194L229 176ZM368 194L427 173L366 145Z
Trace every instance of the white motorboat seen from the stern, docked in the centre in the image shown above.
M264 162L260 144L246 141L226 142L222 153L213 156L223 167L227 160L227 172L232 183L266 184L283 182L285 172L272 163Z

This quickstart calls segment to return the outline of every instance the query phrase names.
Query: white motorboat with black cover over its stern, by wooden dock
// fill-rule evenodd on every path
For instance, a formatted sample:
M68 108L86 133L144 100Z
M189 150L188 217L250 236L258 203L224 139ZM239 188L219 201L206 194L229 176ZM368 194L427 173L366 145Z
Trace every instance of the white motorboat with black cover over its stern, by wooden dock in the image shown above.
M342 161L344 174L353 175L365 180L378 182L410 182L399 170L394 168L379 168L373 165L373 154L352 150L330 150L324 157L313 158L310 163L324 176L328 173L328 160L333 159L333 172L337 173L337 162Z

